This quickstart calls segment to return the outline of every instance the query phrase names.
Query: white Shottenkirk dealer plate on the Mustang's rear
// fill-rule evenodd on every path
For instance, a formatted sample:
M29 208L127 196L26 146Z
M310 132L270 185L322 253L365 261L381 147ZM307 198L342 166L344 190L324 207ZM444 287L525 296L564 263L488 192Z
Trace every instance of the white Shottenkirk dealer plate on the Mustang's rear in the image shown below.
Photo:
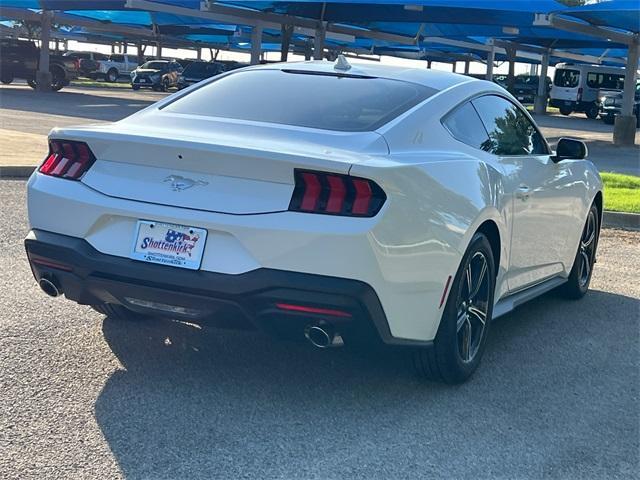
M143 262L198 270L207 230L139 220L131 258Z

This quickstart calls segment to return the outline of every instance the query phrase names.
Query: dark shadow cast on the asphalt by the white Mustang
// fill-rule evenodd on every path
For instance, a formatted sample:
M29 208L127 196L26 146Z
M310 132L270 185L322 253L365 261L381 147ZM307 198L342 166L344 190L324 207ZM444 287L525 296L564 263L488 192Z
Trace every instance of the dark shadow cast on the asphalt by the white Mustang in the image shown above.
M638 313L547 294L492 324L461 386L421 381L404 351L106 318L122 369L95 414L126 478L522 477L505 458L524 451L538 477L597 477L637 466Z

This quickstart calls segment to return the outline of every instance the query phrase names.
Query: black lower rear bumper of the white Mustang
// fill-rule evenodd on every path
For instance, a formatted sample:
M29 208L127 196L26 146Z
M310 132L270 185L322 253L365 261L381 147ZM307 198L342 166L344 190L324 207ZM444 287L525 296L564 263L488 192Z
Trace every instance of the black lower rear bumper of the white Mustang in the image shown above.
M281 337L303 338L307 325L326 322L374 342L430 343L393 338L375 291L357 280L269 268L237 275L183 270L103 254L83 239L42 230L29 232L25 247L36 280L48 279L80 304L119 304L212 324L231 307L243 315L231 324L224 317L224 326L253 325ZM287 310L283 304L333 313Z

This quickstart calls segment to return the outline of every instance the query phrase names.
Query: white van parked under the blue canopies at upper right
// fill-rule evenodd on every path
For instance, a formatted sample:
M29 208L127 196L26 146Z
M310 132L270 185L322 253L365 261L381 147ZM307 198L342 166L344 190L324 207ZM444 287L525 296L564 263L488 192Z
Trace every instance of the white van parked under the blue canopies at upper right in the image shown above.
M622 91L623 85L624 68L559 63L549 106L559 108L563 115L584 112L589 118L598 118L600 92Z

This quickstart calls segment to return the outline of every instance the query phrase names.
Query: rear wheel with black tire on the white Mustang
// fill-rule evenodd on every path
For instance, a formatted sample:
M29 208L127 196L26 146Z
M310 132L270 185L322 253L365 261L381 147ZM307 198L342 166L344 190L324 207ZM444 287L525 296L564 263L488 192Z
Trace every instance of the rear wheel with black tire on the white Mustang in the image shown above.
M421 376L455 384L478 368L493 313L495 278L489 240L476 233L451 285L433 346L414 353L414 366Z

